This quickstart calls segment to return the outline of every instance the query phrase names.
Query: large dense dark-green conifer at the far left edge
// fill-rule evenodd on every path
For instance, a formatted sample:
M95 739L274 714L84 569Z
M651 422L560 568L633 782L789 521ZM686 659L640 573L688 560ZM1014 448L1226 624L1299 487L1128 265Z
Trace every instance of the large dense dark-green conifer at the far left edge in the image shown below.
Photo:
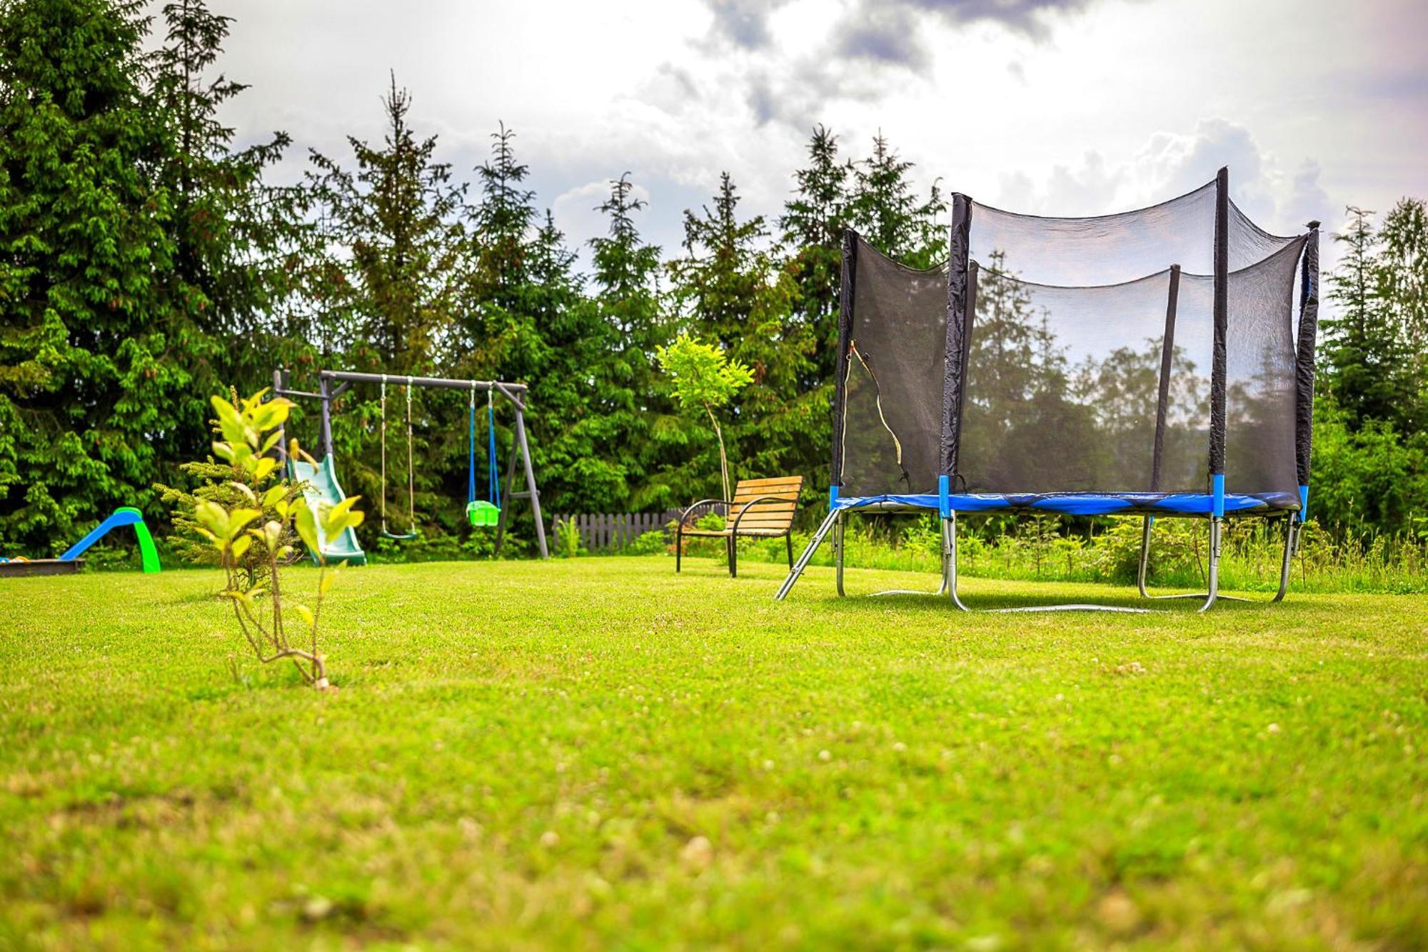
M174 319L173 196L139 3L0 6L0 546L153 509L206 347ZM197 419L198 426L203 416Z

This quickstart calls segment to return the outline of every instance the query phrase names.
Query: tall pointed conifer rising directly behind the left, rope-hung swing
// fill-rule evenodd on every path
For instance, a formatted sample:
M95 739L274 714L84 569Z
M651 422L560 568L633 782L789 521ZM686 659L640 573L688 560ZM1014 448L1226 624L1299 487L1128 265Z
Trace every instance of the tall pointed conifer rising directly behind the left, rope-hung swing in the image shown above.
M326 253L310 276L308 293L326 310L321 324L324 363L334 356L351 369L374 373L428 375L448 362L451 327L461 310L467 270L461 223L466 187L451 182L448 164L436 160L437 137L421 139L410 122L411 96L396 76L381 99L387 132L381 146L348 136L353 169L317 152L307 174L308 200L320 214ZM333 354L336 352L336 354ZM454 486L443 485L448 456L466 459L464 442L451 446L450 426L464 419L453 395L413 392L413 463L417 523L444 519L454 527ZM406 509L404 389L387 387L387 486L381 480L380 399L370 389L337 405L333 437L344 459L343 480L380 506ZM464 436L464 427L460 427ZM434 443L434 445L433 445ZM456 483L456 477L447 482ZM461 472L461 493L466 473ZM406 520L394 523L406 529ZM368 529L367 532L371 532Z

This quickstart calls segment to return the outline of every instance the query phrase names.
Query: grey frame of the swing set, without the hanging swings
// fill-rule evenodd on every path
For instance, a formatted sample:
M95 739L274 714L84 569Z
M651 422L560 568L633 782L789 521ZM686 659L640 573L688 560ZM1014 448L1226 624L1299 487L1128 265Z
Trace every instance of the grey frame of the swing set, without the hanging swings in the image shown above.
M487 395L503 396L510 402L511 407L516 410L516 420L511 425L511 452L507 455L506 466L506 492L503 499L526 499L531 505L531 515L536 519L536 542L540 547L540 557L548 559L550 549L545 543L545 525L541 519L540 512L540 489L536 486L536 467L531 463L530 439L526 435L526 410L527 410L527 392L528 387L524 383L510 383L506 380L457 380L451 377L408 377L406 375L386 375L386 373L357 373L351 370L318 370L317 385L318 390L316 393L308 390L294 390L288 386L288 370L278 367L273 372L273 393L276 396L284 397L303 397L316 399L321 402L321 447L323 453L327 456L333 455L333 400L346 393L354 383L383 383L384 380L400 380L408 387L433 387L444 390L470 390L474 393L477 390L484 390ZM278 462L287 463L287 436L284 435L278 439L277 452ZM520 450L517 453L517 450ZM526 477L526 489L516 489L516 457L521 459L523 476ZM496 523L496 555L501 553L501 543L506 539L506 519L510 510L510 505L501 506L501 515Z

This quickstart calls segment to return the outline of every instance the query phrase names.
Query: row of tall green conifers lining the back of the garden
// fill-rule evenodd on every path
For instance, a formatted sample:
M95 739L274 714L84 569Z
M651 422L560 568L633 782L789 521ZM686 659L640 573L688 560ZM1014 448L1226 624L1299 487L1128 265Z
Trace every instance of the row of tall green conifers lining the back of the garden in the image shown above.
M308 150L303 180L278 184L290 136L240 147L220 120L246 89L221 73L231 23L204 0L156 19L137 0L0 6L0 552L50 555L120 505L164 522L154 486L181 485L178 466L204 453L208 396L267 386L276 366L298 389L318 367L527 382L548 512L718 495L717 443L655 363L681 333L751 369L724 422L734 475L821 486L843 229L914 267L947 256L940 187L917 187L881 134L854 156L820 126L777 216L741 210L725 173L684 213L677 249L641 236L635 183L611 170L583 273L516 132L500 126L486 162L453 169L396 77L380 142ZM1345 529L1428 513L1424 232L1421 202L1378 229L1359 214L1332 277L1317 513ZM406 396L388 392L388 466L401 462L386 499L404 513L393 399L400 415ZM428 530L461 520L466 400L414 396L413 507ZM314 409L293 419L308 445ZM334 417L344 489L370 509L381 412L354 389Z

